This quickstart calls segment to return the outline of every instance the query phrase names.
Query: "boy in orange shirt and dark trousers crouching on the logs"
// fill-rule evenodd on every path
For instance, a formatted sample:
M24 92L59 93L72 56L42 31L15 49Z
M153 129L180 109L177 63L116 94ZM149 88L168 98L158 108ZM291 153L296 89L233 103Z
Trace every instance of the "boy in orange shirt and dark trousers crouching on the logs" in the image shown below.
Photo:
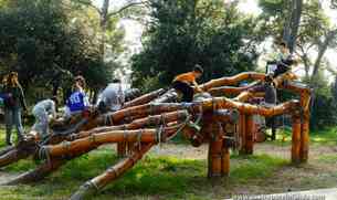
M197 80L201 77L203 69L199 64L196 64L192 72L179 74L175 77L172 87L182 94L182 102L193 101L194 90L192 86L194 86L198 92L201 92Z

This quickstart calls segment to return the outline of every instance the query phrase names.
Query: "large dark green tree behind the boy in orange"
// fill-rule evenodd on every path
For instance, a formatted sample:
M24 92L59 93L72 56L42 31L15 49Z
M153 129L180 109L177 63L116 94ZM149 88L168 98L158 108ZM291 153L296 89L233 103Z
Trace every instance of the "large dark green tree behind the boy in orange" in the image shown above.
M133 56L135 85L156 76L161 85L168 85L175 75L197 63L204 67L203 81L255 66L259 36L254 19L242 18L235 3L224 7L221 0L154 0L150 18L144 50Z

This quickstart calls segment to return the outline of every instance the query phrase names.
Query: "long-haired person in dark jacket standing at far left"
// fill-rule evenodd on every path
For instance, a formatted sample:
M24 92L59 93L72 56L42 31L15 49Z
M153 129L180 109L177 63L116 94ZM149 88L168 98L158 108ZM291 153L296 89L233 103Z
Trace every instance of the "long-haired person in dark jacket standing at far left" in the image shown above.
M11 72L3 84L2 93L4 98L4 123L6 123L6 143L12 145L11 134L14 125L18 130L18 141L23 140L24 131L21 123L21 112L27 110L27 104L23 90L18 81L18 73Z

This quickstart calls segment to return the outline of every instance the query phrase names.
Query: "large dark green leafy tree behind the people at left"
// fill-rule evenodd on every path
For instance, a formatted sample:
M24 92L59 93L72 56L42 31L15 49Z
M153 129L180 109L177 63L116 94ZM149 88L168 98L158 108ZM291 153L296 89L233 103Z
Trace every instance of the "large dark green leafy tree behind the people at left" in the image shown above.
M76 74L92 85L107 82L109 67L99 59L96 40L85 24L71 21L61 1L7 2L0 8L0 65L18 71L27 90L41 85L56 94ZM97 66L104 72L87 73Z

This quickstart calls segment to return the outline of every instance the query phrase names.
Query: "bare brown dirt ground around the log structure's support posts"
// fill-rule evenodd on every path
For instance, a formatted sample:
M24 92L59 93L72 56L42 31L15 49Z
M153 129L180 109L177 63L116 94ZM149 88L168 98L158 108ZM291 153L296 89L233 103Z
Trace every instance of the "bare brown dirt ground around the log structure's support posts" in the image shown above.
M333 145L314 144L309 148L309 160L307 165L281 166L272 176L266 179L254 179L242 183L229 185L224 190L223 185L214 186L204 192L213 192L211 198L227 198L231 194L261 194L261 193L282 193L287 191L302 191L309 189L324 189L337 187L337 147ZM206 160L208 146L194 148L183 144L162 144L150 150L152 156L169 156L178 159ZM285 160L291 159L289 145L275 145L270 143L256 144L254 155L271 155ZM325 160L323 157L327 157ZM329 159L333 158L333 159ZM238 165L238 159L232 159L231 164ZM14 178L17 175L0 170L0 183ZM201 180L201 178L199 178ZM202 178L202 181L203 178ZM199 196L199 192L196 191ZM155 198L156 199L156 198Z

